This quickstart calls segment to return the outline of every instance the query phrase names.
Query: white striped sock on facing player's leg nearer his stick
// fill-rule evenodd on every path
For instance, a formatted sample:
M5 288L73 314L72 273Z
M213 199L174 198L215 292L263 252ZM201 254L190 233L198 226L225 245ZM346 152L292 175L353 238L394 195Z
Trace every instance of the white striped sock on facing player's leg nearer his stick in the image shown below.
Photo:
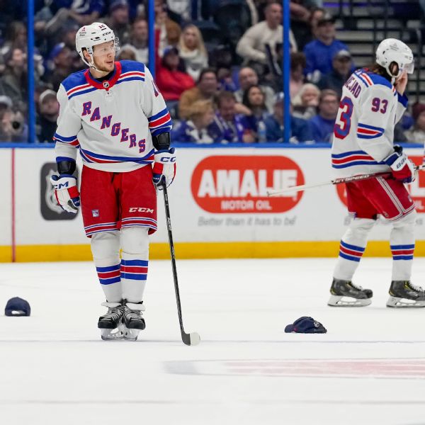
M143 299L149 265L149 237L147 227L121 229L121 285L123 299L140 302Z

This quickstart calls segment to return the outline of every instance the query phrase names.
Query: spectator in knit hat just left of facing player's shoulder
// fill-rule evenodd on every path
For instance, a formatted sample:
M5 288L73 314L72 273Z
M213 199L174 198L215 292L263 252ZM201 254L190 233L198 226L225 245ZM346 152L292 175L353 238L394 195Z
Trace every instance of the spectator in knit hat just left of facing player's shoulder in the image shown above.
M38 100L38 108L40 111L37 125L38 142L52 143L59 115L59 102L55 91L50 89L43 91Z

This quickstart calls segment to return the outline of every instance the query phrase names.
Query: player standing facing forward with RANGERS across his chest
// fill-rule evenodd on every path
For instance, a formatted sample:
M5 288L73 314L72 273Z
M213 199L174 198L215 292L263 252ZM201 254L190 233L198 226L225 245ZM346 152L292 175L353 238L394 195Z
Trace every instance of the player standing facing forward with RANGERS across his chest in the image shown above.
M140 62L115 62L118 39L111 28L103 23L80 28L76 47L89 69L64 79L57 93L59 176L52 184L62 208L77 212L79 150L84 229L108 307L98 328L103 339L135 340L145 329L148 234L157 229L155 186L163 180L168 186L176 170L171 118L149 69Z

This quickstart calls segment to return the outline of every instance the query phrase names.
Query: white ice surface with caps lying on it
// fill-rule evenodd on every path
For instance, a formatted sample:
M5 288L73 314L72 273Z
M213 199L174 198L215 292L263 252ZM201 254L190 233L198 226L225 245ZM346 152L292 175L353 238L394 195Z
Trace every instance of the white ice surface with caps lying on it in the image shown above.
M362 260L363 308L327 307L335 259L151 261L147 329L101 341L92 263L0 264L0 424L425 424L425 310L385 307L390 259ZM414 263L425 283L425 261ZM1 312L3 314L3 312ZM285 334L312 316L327 334Z

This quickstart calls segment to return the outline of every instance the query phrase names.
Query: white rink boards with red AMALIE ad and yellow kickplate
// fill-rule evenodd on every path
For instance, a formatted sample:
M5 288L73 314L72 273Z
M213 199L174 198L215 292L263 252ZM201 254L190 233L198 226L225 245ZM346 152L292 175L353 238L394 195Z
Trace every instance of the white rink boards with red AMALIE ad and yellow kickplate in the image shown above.
M171 222L179 258L335 256L349 223L344 187L324 186L268 198L268 190L333 178L329 147L190 147L178 149L176 180L169 188ZM406 149L421 164L421 148ZM0 149L6 182L0 209L0 261L91 259L81 213L62 212L49 183L52 149ZM81 164L79 164L81 169ZM419 212L416 255L425 255L425 173L409 186ZM169 257L162 193L151 257ZM138 205L135 205L138 206ZM142 206L142 205L141 205ZM390 256L390 226L378 222L369 256Z

